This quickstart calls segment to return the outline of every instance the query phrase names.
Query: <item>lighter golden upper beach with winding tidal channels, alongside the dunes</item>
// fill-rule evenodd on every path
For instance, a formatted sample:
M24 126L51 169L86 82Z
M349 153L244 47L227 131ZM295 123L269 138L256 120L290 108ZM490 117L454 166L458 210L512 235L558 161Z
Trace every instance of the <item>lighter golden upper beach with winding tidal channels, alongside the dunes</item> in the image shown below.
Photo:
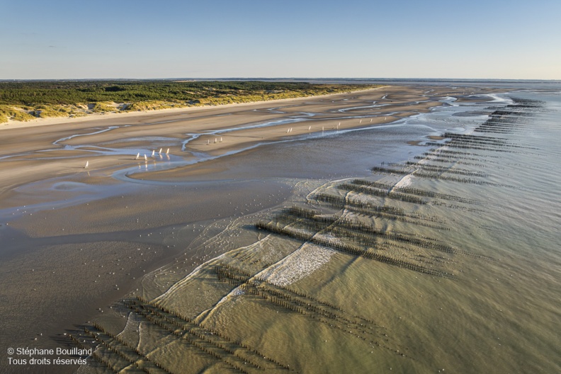
M423 89L385 88L384 91L378 88L261 103L170 109L162 113L100 115L77 122L48 120L50 125L31 123L27 127L24 124L21 128L12 129L4 126L0 138L0 160L4 157L4 161L9 162L0 162L0 179L4 180L0 194L8 193L10 196L18 186L54 175L84 172L91 181L91 173L96 172L103 180L115 168L138 166L148 170L168 162L167 157L148 157L149 162L145 163L143 155L150 155L154 149L169 148L169 162L179 166L180 162L193 161L197 154L217 157L259 142L290 139L307 133L310 124L315 133L322 132L322 129L334 130L338 123L341 123L341 130L360 128L391 123L441 105L438 100L429 100L429 96L424 98ZM442 96L445 96L450 90L443 91ZM342 111L333 109L337 107ZM307 114L310 111L324 114L310 118ZM283 125L286 118L301 122ZM367 118L373 123L361 123L363 119L368 122ZM269 121L271 125L259 127L263 121ZM251 126L248 127L248 123ZM257 126L254 125L256 123ZM33 137L23 140L23 137L29 136L31 129ZM288 132L290 129L293 130ZM161 137L166 137L166 140L157 140ZM225 142L215 143L217 137L223 137ZM137 141L130 142L131 139ZM140 154L142 159L135 159L136 154ZM89 169L84 169L86 161ZM13 169L16 165L18 168ZM2 200L0 195L0 209ZM12 206L17 204L16 200L13 201Z

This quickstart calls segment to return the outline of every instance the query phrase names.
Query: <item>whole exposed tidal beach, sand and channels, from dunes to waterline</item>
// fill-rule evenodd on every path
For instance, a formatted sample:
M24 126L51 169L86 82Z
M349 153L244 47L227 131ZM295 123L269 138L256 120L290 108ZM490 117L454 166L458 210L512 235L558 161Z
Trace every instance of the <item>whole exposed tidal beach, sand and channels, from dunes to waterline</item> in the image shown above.
M104 318L101 314L123 319L109 308L115 300L135 293L156 297L174 284L172 279L201 263L255 243L259 235L243 230L254 220L252 214L266 214L298 188L315 188L330 176L329 170L317 171L319 182L308 185L299 180L309 178L305 168L298 171L296 166L290 177L275 178L274 170L259 162L238 164L237 157L254 154L259 160L263 143L392 123L463 91L387 87L274 103L3 126L1 351L66 346L63 334L86 321ZM142 159L135 159L137 153ZM232 222L240 225L239 236L212 246L212 238ZM290 248L271 253L271 263L288 256ZM180 255L181 273L154 281L154 271L171 272ZM119 331L125 319L109 323ZM22 372L6 366L5 357L1 365L8 373ZM26 367L23 372L64 373L76 367L55 369Z

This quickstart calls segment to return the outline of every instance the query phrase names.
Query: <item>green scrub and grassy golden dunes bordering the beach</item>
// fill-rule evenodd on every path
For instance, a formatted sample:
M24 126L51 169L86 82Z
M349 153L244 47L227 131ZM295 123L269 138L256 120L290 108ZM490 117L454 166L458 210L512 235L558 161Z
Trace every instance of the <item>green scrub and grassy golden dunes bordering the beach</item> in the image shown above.
M268 81L0 82L0 123L338 94L375 85Z

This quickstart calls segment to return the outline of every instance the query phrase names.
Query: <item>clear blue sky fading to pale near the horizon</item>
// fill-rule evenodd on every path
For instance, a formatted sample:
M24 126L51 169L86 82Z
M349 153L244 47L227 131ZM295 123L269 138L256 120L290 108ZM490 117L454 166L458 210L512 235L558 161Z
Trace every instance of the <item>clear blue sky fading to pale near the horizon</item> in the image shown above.
M0 79L561 79L560 0L0 0Z

